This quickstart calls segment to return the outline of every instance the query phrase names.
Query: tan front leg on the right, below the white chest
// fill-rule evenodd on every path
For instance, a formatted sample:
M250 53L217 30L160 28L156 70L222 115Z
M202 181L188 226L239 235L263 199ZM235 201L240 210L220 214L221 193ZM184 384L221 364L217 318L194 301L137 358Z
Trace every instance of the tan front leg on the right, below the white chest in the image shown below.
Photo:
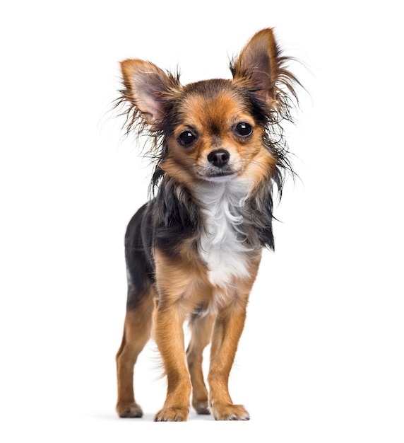
M232 306L221 309L215 321L210 348L208 374L209 408L215 420L249 420L242 405L234 405L228 381L239 338L246 318L248 296L239 298Z

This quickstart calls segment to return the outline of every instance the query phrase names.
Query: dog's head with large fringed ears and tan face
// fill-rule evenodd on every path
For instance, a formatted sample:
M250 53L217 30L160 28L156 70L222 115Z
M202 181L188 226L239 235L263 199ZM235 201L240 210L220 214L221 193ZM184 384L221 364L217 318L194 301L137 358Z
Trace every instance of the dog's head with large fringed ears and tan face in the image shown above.
M235 177L279 181L279 166L289 166L279 122L290 119L296 81L286 60L273 30L264 29L230 64L232 80L182 86L179 76L150 62L121 62L127 127L153 137L155 183L164 174L184 184Z

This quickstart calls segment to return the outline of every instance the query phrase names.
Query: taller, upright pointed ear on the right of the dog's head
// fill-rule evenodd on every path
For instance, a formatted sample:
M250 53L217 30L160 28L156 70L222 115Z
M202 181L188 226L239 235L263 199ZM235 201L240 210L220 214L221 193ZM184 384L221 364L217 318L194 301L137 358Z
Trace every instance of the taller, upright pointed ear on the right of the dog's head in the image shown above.
M267 28L260 30L247 42L230 68L234 81L248 79L254 93L271 107L276 107L275 84L282 61L273 30Z

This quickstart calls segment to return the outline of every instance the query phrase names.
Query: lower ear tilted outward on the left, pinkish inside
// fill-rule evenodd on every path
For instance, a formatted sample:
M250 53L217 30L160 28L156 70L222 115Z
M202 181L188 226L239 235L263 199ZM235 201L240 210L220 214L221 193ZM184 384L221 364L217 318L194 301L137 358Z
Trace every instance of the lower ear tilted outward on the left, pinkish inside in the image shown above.
M161 122L167 108L167 97L173 88L179 86L178 79L165 74L162 69L150 62L128 59L121 62L121 73L125 90L121 91L141 112L149 125Z

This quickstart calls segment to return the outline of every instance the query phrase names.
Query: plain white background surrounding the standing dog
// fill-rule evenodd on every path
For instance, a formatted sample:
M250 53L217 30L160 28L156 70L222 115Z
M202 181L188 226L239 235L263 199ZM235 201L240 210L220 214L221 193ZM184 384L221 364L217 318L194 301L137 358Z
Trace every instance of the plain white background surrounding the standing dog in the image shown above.
M0 11L0 439L403 442L403 32L397 1L8 1ZM138 360L141 420L114 413L126 223L150 168L109 113L118 62L182 81L275 27L309 91L232 372L249 422L154 423L158 354ZM175 439L175 440L174 440Z

